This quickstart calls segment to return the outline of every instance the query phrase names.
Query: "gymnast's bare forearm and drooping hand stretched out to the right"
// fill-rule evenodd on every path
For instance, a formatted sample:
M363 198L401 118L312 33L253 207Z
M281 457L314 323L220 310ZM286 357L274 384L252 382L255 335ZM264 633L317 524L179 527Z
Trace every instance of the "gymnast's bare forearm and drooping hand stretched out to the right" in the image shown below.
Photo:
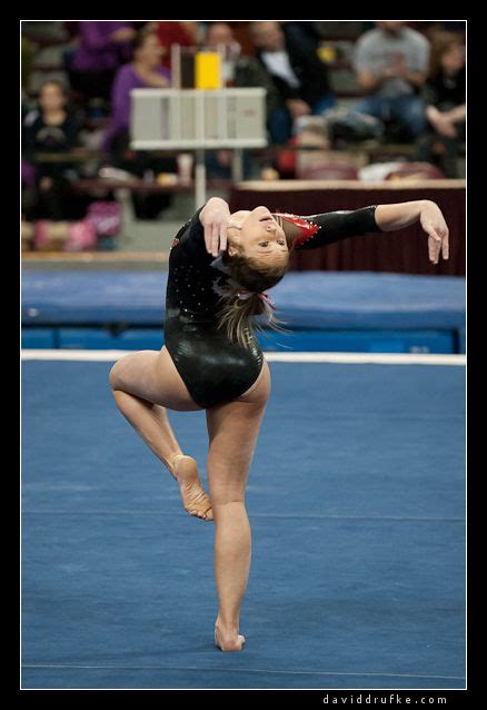
M419 199L396 205L377 205L375 219L381 231L396 231L419 221L428 235L429 260L438 264L440 255L444 259L448 258L448 226L436 203Z

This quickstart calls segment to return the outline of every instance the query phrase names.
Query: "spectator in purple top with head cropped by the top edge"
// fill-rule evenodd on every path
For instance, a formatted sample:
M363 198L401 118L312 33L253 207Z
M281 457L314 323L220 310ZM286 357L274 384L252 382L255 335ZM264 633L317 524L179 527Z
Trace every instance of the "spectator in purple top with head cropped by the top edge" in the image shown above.
M87 98L110 99L113 77L130 59L132 22L80 21L79 46L69 61L71 88Z

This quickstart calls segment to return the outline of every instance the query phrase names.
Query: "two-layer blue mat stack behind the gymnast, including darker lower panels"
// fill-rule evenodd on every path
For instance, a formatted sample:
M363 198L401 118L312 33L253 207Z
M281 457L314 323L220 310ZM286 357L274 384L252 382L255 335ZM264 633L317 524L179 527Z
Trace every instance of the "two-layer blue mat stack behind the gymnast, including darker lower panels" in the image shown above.
M27 273L22 347L159 349L167 272ZM464 353L465 279L291 272L272 289L291 331L266 351Z

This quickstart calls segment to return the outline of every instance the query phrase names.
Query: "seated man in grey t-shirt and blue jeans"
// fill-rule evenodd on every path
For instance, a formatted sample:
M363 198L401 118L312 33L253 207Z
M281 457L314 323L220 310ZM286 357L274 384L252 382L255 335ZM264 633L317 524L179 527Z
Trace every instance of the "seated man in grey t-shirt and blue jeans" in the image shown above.
M366 97L352 107L407 128L411 138L426 124L424 102L418 95L428 72L429 42L405 22L380 21L357 42L355 70Z

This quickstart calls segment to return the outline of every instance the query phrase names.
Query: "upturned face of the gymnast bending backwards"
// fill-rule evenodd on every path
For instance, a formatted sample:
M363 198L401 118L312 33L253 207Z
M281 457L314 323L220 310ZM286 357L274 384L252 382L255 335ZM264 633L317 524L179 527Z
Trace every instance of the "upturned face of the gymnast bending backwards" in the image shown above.
M256 207L251 211L240 209L231 215L228 254L238 253L272 265L288 262L286 235L267 207Z

